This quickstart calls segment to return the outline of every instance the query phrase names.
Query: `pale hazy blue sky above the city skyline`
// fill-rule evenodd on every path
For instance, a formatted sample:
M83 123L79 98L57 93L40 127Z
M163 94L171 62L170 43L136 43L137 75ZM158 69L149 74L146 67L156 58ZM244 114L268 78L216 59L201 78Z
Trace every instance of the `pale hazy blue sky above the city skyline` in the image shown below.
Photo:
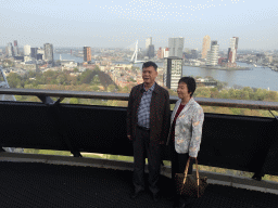
M0 0L0 46L155 49L168 38L202 49L203 37L239 50L278 49L277 0Z

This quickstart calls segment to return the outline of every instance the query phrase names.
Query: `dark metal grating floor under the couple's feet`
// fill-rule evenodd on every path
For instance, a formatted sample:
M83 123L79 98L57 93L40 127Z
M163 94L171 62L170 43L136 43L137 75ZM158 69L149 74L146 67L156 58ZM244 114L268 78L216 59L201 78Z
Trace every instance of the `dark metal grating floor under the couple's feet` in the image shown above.
M148 192L129 197L132 172L92 167L39 162L0 162L1 208L170 208L166 199L170 180L162 177L162 198L154 203ZM278 208L278 196L210 184L194 208Z

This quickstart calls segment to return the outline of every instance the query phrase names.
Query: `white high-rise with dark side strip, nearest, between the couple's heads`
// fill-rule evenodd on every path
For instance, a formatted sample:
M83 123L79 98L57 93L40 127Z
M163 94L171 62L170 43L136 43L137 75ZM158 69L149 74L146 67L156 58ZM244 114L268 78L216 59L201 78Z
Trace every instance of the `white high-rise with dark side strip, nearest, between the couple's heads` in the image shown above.
M164 60L163 83L170 90L177 91L178 81L182 77L182 58L167 57Z

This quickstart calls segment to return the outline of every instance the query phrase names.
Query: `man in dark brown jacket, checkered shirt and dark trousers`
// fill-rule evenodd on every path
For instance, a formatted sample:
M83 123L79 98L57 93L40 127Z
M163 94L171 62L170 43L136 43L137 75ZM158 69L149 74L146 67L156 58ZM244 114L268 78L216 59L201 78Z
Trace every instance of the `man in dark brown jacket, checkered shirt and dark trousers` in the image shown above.
M127 138L134 144L135 198L144 191L144 158L148 157L149 188L157 200L161 168L161 145L166 143L169 129L169 94L155 82L157 65L142 65L143 83L131 89L127 107Z

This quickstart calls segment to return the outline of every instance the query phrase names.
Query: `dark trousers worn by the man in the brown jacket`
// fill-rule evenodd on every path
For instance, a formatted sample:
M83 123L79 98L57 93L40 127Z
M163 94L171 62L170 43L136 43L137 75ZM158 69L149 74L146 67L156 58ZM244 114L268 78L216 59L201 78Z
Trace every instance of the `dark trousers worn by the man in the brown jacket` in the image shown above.
M157 181L161 170L161 144L150 142L150 131L137 127L134 140L134 185L136 192L144 190L146 155L149 168L149 188L153 194L157 194L160 191Z

